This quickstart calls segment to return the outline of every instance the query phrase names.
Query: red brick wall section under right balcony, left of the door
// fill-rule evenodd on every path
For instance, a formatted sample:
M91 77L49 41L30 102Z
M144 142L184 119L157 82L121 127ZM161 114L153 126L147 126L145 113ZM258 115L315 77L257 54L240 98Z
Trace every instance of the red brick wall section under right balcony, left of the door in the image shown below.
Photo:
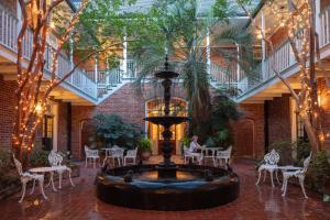
M292 140L290 95L283 95L268 101L268 141Z

